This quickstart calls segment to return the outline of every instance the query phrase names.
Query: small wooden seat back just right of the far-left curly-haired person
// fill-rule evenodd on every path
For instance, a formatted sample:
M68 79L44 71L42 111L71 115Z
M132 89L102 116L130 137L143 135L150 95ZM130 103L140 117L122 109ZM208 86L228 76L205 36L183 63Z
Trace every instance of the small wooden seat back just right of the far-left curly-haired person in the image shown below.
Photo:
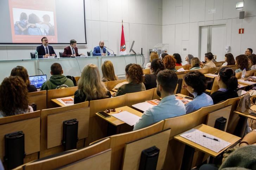
M36 104L37 110L46 109L46 90L28 93L29 104Z

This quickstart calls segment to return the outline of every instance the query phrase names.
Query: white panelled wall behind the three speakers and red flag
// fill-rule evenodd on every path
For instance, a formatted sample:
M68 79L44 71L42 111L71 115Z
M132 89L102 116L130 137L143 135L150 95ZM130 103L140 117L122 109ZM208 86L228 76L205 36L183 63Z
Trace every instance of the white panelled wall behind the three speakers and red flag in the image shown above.
M90 51L104 40L105 46L119 54L122 20L127 49L134 40L135 52L143 48L146 61L149 48L162 42L162 0L85 0L85 19L88 45L78 46L79 53ZM64 47L54 46L55 52L63 52ZM29 53L35 49L0 46L0 60L30 59Z

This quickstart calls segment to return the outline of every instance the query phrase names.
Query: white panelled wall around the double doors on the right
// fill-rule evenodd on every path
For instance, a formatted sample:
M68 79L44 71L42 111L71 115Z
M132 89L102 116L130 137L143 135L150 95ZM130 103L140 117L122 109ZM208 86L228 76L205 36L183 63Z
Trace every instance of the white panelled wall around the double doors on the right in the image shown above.
M162 41L169 43L169 54L198 56L199 26L226 24L226 46L237 56L246 48L256 53L256 0L244 0L245 18L239 19L236 2L242 0L163 0ZM208 14L208 9L217 13ZM244 34L238 29L244 28ZM187 50L183 50L186 48Z

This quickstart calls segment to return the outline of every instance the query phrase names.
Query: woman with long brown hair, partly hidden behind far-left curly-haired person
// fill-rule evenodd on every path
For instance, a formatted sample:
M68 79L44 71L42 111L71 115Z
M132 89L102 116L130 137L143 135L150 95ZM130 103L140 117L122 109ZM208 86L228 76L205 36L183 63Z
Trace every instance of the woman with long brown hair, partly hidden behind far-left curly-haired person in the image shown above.
M34 85L30 84L27 69L23 66L17 66L12 69L11 76L20 76L27 86L28 93L37 91Z

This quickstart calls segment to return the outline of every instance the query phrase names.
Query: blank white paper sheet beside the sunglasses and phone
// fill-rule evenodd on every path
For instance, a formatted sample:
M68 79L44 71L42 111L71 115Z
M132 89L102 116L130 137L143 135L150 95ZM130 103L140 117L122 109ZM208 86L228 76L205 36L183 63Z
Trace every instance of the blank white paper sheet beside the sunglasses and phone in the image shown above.
M112 114L111 116L123 121L124 123L129 124L130 126L133 126L136 124L137 121L139 121L140 117L137 115L134 115L128 111L122 111L117 114Z

